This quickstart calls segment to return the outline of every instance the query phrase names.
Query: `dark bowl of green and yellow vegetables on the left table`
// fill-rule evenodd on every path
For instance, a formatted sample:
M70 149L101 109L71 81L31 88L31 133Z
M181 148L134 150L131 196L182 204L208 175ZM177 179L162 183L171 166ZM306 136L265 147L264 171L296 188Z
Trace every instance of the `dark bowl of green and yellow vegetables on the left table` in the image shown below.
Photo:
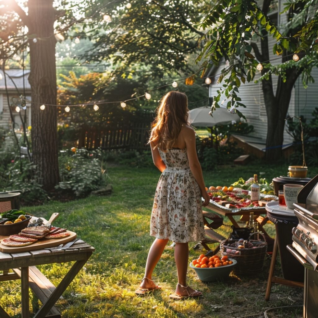
M0 218L0 235L9 236L18 234L26 228L30 222L31 216L25 215L25 212L10 210L1 213Z

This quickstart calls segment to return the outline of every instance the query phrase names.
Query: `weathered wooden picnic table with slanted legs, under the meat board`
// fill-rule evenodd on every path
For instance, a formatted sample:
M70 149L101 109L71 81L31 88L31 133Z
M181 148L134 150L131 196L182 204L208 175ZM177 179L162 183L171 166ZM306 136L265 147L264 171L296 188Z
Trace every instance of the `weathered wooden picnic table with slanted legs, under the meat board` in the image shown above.
M43 304L33 318L43 318L50 313L50 318L61 318L61 314L54 307L74 277L85 265L95 249L78 239L71 247L65 250L40 249L28 252L3 253L0 252L0 282L7 280L21 280L21 307L22 318L29 318L29 287L34 295ZM38 265L74 262L59 285L55 287L43 273ZM13 273L9 270L12 269ZM0 306L0 317L10 316ZM47 316L48 317L48 316Z

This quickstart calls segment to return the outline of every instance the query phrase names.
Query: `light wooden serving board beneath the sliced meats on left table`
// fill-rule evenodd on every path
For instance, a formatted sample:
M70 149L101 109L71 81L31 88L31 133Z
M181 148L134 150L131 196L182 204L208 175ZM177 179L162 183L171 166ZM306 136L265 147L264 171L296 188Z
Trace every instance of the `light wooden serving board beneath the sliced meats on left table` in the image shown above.
M35 251L35 250L41 250L46 247L55 247L59 246L60 244L66 244L68 242L73 241L73 239L76 238L76 233L71 232L71 235L67 236L66 238L62 239L43 239L39 240L33 244L26 245L26 246L17 246L17 247L11 247L11 246L5 246L0 244L0 251L3 253L19 253L19 252L29 252L29 251ZM2 236L0 235L0 240L8 238L9 236Z

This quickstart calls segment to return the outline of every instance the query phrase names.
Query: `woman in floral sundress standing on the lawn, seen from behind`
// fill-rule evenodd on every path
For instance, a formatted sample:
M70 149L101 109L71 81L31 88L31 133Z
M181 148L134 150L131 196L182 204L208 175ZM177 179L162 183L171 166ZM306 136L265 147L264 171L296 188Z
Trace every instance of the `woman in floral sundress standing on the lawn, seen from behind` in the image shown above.
M197 158L196 137L188 122L188 99L184 93L171 91L163 96L149 143L160 176L151 214L150 235L156 237L150 247L145 276L136 294L160 289L152 272L169 240L175 242L178 275L176 293L169 297L182 299L202 293L187 286L189 241L204 238L202 204L209 203L202 169ZM204 202L202 203L201 197Z

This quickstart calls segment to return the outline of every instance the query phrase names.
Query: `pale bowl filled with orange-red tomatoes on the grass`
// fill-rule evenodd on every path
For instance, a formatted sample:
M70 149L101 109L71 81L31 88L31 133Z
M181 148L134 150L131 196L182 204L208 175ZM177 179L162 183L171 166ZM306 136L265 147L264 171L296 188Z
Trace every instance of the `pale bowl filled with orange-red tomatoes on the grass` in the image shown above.
M237 264L235 259L228 258L227 255L220 257L213 255L207 257L201 254L198 259L190 263L190 267L195 270L199 280L211 282L217 280L227 280L233 266Z

